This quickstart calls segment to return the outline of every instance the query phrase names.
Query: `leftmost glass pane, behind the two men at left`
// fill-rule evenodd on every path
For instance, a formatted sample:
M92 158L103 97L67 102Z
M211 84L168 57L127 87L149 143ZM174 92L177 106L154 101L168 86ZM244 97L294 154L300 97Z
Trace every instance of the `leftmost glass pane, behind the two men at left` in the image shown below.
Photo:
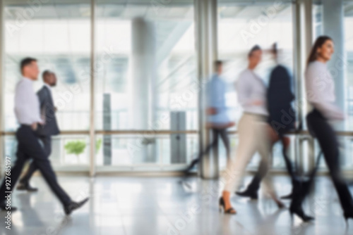
M44 2L44 1L43 1ZM35 91L43 86L42 72L56 74L52 95L57 108L56 118L61 131L83 131L90 128L90 0L73 4L32 5L26 1L6 1L4 7L4 129L13 132L18 123L13 112L16 83L21 79L22 58L37 58L40 77ZM67 1L68 2L68 1ZM5 148L16 143L6 137ZM83 144L80 153L71 149ZM55 167L80 165L88 169L88 133L60 135L53 141L52 163Z

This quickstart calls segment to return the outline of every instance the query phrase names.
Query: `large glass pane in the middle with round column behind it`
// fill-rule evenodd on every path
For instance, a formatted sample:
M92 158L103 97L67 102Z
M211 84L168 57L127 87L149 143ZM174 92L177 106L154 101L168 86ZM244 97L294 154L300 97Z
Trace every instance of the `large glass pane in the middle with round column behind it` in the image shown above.
M107 133L97 165L185 165L195 138L157 131L197 129L193 1L96 4L95 125ZM127 132L111 134L119 130ZM177 151L187 157L174 161Z

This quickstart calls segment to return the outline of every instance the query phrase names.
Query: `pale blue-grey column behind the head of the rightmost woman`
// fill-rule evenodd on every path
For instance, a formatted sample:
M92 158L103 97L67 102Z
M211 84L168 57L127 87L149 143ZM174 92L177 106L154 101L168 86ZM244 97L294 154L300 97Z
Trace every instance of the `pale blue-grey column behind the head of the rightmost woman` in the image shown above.
M328 69L335 81L336 103L345 110L345 36L343 0L322 0L323 4L323 34L328 35L335 42L335 53L328 62ZM336 126L344 130L340 123Z

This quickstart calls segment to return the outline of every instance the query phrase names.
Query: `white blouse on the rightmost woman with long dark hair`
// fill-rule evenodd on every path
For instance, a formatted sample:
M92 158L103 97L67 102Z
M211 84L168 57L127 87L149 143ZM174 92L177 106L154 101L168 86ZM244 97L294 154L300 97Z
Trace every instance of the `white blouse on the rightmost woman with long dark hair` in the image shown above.
M342 110L335 105L335 82L327 65L320 61L309 63L305 72L306 98L325 118L341 120Z

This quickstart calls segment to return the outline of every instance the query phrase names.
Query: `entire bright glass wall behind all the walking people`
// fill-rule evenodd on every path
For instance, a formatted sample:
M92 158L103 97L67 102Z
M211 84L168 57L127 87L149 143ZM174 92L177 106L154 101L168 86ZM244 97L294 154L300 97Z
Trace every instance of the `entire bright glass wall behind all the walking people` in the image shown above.
M323 34L321 1L313 4L313 38ZM91 25L90 0L5 1L4 38L4 151L15 155L13 132L18 127L13 95L20 80L18 63L25 56L38 59L40 70L56 73L53 89L62 133L54 137L52 163L56 169L88 170L90 144L95 145L97 170L181 170L198 152L198 84L196 17L193 0L95 0ZM255 4L254 4L255 3ZM264 51L256 72L268 82L276 61L269 53L277 43L279 61L291 75L294 58L294 4L292 1L217 1L218 58L226 61L224 80L229 83L227 106L236 122L241 108L234 82L246 68L246 54L255 44ZM352 4L345 2L345 132L353 126ZM297 20L298 21L298 20ZM95 33L91 42L91 28ZM91 58L94 46L95 57ZM352 47L352 50L351 50ZM352 58L351 58L352 57ZM90 68L90 62L94 67ZM90 75L95 78L90 92ZM297 77L293 77L296 84ZM42 87L42 78L35 90ZM293 89L297 89L293 86ZM352 91L352 92L351 92ZM90 125L90 100L94 99L95 124ZM299 97L300 98L300 97ZM90 129L95 130L94 141ZM237 126L230 136L237 148ZM308 144L297 148L301 135L293 134L289 155L308 155ZM305 138L304 138L305 139ZM352 169L352 138L340 138L345 160ZM220 142L221 143L221 142ZM80 151L73 148L80 147ZM273 151L273 166L284 169L282 145ZM344 149L344 150L343 150ZM316 146L315 151L319 151ZM225 148L220 144L220 166ZM305 157L306 158L306 157ZM309 159L304 159L304 163ZM250 168L258 166L253 158ZM322 166L325 166L322 163Z

